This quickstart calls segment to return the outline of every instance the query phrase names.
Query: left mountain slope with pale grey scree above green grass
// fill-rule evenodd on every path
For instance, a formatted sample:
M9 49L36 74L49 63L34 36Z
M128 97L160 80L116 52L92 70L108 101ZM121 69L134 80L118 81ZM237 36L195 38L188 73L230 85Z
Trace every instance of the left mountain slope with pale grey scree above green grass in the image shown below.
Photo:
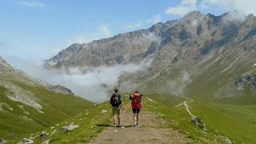
M14 70L0 57L0 135L12 142L92 107L72 94L54 93L46 83Z

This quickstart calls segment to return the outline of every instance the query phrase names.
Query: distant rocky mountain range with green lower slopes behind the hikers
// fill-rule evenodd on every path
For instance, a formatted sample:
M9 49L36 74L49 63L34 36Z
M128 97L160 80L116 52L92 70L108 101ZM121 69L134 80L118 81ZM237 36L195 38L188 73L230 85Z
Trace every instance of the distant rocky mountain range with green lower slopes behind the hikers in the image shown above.
M229 92L236 78L255 72L255 34L253 14L242 18L235 10L219 16L192 11L148 29L72 44L45 66L88 70L153 59L147 70L123 74L118 85L130 90L126 83L132 82L149 93L226 98L242 94Z

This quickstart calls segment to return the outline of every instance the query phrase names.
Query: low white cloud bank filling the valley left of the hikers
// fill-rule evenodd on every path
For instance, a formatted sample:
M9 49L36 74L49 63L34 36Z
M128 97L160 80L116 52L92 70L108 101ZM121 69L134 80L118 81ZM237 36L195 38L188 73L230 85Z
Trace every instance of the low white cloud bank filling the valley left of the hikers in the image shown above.
M152 62L152 59L148 59L139 64L101 66L94 70L87 70L86 73L75 67L69 68L69 74L66 74L65 70L46 70L42 65L34 65L18 58L7 59L12 66L25 71L26 74L51 85L66 86L74 94L92 102L106 101L110 97L110 90L118 86L118 78L121 74L146 70Z

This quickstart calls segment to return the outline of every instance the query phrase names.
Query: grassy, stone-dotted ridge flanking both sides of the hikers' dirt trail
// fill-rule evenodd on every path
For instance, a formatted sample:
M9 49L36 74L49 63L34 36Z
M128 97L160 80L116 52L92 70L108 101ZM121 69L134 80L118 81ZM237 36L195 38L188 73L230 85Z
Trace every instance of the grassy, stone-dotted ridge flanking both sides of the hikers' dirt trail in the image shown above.
M129 98L123 98L125 103L130 103ZM190 115L186 113L186 110L182 106L175 108L171 106L165 106L162 103L154 102L149 98L143 98L143 111L151 111L157 115L157 121L164 119L166 125L164 128L174 128L182 134L186 134L187 138L190 138L192 143L223 143L222 139L218 138L218 134L210 126L207 126L207 130L201 130L198 126L195 126L193 122L190 122ZM178 104L175 103L174 105ZM102 110L107 110L106 113L102 113ZM142 117L143 117L142 111ZM132 113L130 112L132 115ZM142 121L143 122L143 121ZM61 130L62 126L68 126L70 123L78 125L79 127L66 131ZM66 121L60 122L58 126L54 126L54 129L46 129L49 134L46 138L40 140L39 137L35 138L35 143L42 143L49 140L50 143L86 143L90 142L90 139L95 138L106 126L110 126L111 123L111 108L109 102L104 102L93 109L87 110L73 118L69 118ZM156 127L162 128L162 127ZM52 134L54 132L54 134ZM41 132L35 133L32 136L40 135ZM29 138L27 135L26 138Z

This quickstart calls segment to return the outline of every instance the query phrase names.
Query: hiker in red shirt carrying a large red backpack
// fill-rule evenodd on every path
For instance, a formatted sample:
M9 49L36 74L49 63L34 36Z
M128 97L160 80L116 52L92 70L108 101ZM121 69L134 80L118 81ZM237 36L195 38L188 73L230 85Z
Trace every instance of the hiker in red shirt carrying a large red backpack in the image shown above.
M138 114L142 108L142 94L135 91L134 94L130 95L131 106L134 113L134 127L138 126Z

